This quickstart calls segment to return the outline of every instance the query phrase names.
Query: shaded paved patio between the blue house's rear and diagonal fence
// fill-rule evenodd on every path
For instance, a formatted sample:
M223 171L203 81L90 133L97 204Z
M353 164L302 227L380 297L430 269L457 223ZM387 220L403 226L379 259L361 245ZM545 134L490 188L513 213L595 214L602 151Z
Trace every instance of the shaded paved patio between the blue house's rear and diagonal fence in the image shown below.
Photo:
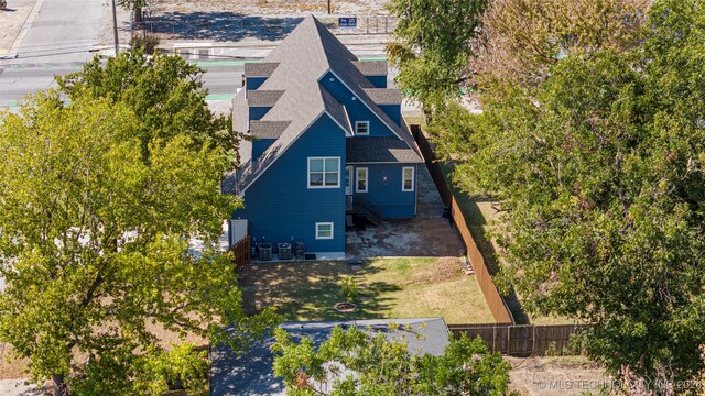
M348 260L388 256L459 256L460 239L443 217L443 201L424 165L419 166L416 218L388 220L346 233Z

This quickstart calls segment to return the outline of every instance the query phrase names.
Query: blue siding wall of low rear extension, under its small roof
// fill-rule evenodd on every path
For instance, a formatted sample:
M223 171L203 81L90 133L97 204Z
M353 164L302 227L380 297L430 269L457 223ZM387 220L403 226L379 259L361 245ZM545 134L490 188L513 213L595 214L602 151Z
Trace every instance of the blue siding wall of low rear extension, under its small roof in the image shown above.
M416 202L416 180L414 180L413 191L402 191L402 167L414 166L415 164L369 164L355 165L355 167L368 168L368 193L357 193L366 196L369 200L382 208L382 216L388 219L405 219L415 216ZM419 169L414 170L414 177ZM356 177L357 170L352 173ZM386 179L384 179L386 178Z

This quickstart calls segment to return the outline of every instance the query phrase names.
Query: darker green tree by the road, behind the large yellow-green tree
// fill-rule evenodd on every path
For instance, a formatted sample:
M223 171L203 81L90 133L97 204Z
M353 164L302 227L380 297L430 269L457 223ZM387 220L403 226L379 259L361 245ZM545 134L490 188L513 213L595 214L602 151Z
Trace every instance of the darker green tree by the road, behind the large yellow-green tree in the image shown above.
M141 48L133 48L105 63L95 57L82 72L56 80L70 100L88 91L132 110L145 153L153 139L186 133L196 145L209 141L234 155L237 142L226 118L214 117L206 106L203 73L180 56L145 56Z

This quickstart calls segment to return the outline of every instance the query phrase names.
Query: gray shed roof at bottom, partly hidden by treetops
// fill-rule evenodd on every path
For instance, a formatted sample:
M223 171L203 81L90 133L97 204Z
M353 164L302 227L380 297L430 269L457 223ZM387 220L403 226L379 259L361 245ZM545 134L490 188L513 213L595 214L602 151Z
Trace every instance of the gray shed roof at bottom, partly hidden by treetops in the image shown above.
M389 324L399 324L399 330L390 331ZM337 322L290 322L281 324L295 342L303 337L310 338L315 346L325 342L336 326L356 326L371 337L378 332L388 339L402 340L413 354L430 353L442 355L448 341L448 329L443 318L357 320ZM406 329L409 326L409 329ZM273 337L249 345L248 351L239 354L229 346L216 345L210 350L210 394L274 396L286 395L282 378L275 377L272 364L274 356L270 351Z

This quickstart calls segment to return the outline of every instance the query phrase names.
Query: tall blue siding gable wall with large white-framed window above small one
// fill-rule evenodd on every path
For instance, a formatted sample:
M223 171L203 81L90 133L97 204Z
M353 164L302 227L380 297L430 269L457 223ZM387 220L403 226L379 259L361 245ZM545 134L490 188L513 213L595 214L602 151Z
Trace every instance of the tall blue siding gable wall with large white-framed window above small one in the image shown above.
M340 157L339 188L308 188L310 156ZM324 114L250 186L245 205L232 218L248 219L257 242L293 237L310 252L345 252L345 132ZM334 222L334 239L316 240L316 222Z

